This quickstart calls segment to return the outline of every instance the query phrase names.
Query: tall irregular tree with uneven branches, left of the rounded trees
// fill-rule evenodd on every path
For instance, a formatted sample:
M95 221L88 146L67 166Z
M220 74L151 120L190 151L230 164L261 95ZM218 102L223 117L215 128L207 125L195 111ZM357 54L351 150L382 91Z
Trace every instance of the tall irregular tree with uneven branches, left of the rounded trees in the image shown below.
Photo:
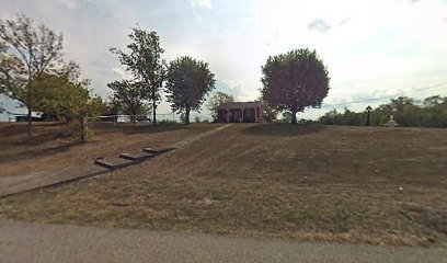
M152 102L152 121L153 125L157 125L157 102L160 100L160 88L165 79L164 62L161 59L164 50L160 47L156 32L135 27L129 38L131 41L127 45L129 54L118 48L111 48L111 52L118 55L119 61L131 72L134 77L131 85L140 89L141 99Z

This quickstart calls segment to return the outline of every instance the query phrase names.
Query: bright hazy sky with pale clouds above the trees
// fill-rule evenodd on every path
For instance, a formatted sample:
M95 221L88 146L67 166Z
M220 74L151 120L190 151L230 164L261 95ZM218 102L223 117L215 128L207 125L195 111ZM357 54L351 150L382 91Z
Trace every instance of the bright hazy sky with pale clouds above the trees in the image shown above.
M322 108L299 118L388 101L352 104L375 98L447 95L447 0L0 0L1 19L16 13L61 32L66 58L104 98L106 83L128 77L108 49L125 49L136 25L158 33L168 61L187 55L208 62L216 90L238 101L259 98L268 56L316 49L331 89Z

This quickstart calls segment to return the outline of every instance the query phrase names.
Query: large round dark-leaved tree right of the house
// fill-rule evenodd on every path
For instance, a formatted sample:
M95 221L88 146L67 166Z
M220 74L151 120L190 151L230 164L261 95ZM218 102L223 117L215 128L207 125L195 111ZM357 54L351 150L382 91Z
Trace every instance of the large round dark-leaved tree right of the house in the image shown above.
M271 106L291 113L319 107L329 92L329 76L316 50L295 49L268 57L262 67L262 95Z

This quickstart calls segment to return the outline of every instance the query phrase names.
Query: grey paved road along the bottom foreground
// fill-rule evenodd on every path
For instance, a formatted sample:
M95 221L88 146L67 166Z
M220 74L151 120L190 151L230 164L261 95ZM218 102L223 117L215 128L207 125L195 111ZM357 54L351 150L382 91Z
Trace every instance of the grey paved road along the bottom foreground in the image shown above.
M446 249L226 238L0 218L0 262L447 262Z

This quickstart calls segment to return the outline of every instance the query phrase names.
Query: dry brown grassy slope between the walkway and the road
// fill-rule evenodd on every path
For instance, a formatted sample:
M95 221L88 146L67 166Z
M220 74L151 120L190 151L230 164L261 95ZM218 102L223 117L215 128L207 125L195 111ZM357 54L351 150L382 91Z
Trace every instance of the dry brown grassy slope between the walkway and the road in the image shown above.
M45 222L447 244L447 129L238 124L112 174L0 199Z

